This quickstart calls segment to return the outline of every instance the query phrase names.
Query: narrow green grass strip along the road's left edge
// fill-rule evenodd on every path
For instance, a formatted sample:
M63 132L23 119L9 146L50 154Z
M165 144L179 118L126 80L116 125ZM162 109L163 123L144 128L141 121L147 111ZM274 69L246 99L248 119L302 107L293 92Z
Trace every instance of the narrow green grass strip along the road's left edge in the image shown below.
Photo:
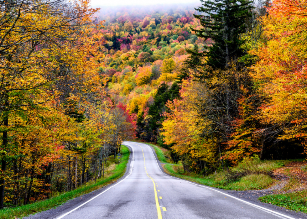
M89 183L88 185L83 185L76 190L65 192L64 194L61 194L59 196L44 201L37 201L33 204L14 207L14 208L5 208L3 210L0 210L0 218L1 219L22 218L30 214L38 213L40 211L45 211L50 208L54 208L58 205L61 205L70 199L79 197L93 190L97 190L105 185L108 185L124 175L129 160L129 155L130 155L129 149L126 146L122 145L121 163L119 165L116 165L116 169L113 171L113 174L110 175L109 177L97 180L96 183L92 182Z

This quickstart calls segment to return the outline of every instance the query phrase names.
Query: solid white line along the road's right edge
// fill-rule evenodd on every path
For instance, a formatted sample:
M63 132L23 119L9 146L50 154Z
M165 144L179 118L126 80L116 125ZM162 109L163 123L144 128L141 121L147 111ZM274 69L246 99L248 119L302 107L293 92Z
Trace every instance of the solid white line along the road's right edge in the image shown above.
M145 144L145 145L147 145L148 147L150 147L148 144ZM151 148L151 152L153 153L153 149L152 149L152 148ZM153 156L154 156L154 154L153 154ZM161 171L164 175L167 175L167 174L164 173L164 172L162 171L162 169L160 168L156 156L154 156L154 158L155 158L155 160L156 160L156 162L157 162L157 165L158 165L160 171ZM178 178L178 177L171 176L171 175L167 175L167 176L170 176L170 177L173 177L173 178L176 178L176 179L179 179L179 180L184 180L184 179L180 179L180 178ZM280 217L280 218L296 219L296 218L294 218L294 217L290 217L290 216L281 214L281 213L279 213L279 212L272 211L272 210L267 209L267 208L265 208L265 207L258 206L258 205L256 205L256 204L252 204L252 203L250 203L250 202L248 202L248 201L244 201L244 200L239 199L239 198L237 198L237 197L235 197L235 196L231 196L231 195L229 195L229 194L227 194L227 193L221 192L221 191L219 191L219 190L215 190L215 189L213 189L213 188L211 188L211 187L208 187L208 186L205 186L205 185L200 185L200 184L195 184L195 183L190 182L190 181L188 181L188 180L184 180L184 181L186 181L186 182L188 182L188 183L190 183L190 184L193 184L193 185L199 185L199 186L205 187L205 188L207 188L207 189L210 189L210 190L219 192L219 193L221 193L221 194L223 194L223 195L225 195L225 196L228 196L228 197L231 197L231 198L236 199L236 200L238 200L238 201L241 201L241 202L243 202L243 203L245 203L245 204L247 204L247 205L249 205L249 206L252 206L252 207L258 208L258 209L260 209L260 210L262 210L262 211L266 211L267 213L273 214L274 216L277 216L277 217Z

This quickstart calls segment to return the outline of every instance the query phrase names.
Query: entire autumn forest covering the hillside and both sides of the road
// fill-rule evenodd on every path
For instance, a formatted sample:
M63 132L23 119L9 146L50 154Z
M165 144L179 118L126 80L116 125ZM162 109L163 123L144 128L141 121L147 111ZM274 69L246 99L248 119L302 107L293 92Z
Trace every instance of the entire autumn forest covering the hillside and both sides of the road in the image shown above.
M127 139L205 174L306 158L303 0L0 7L0 208L103 177Z

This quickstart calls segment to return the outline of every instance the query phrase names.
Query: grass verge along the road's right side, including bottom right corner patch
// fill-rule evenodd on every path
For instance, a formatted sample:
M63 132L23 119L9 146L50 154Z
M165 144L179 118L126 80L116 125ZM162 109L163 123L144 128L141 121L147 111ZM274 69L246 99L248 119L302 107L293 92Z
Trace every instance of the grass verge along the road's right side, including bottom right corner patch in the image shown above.
M165 154L167 150L148 143L155 150L158 159L162 163L169 163ZM169 154L169 153L168 153ZM280 168L291 160L260 161L257 159L250 160L232 168L228 174L220 172L203 177L201 174L184 172L181 164L164 164L164 171L168 174L196 182L202 185L226 189L226 190L257 190L271 185L274 180L268 175L274 169ZM307 165L302 166L303 171L307 171ZM289 185L292 185L291 179ZM271 203L294 211L307 213L307 190L287 193L268 195L259 198L260 201Z

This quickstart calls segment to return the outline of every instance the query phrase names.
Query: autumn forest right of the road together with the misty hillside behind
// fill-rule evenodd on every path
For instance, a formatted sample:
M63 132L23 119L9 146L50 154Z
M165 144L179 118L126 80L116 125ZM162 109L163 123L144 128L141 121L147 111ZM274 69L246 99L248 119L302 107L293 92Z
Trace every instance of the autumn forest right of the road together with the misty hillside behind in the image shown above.
M221 2L101 16L110 95L187 171L304 158L306 3Z

